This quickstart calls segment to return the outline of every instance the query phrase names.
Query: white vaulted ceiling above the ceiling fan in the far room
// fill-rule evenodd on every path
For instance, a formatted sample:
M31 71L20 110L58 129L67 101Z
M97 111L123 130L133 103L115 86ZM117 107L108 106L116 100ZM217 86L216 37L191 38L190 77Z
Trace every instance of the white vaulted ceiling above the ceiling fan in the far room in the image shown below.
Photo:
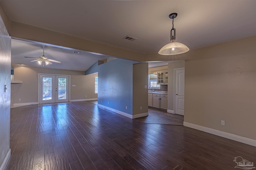
M39 65L37 62L31 62L36 59L24 58L26 57L37 57L43 55L43 43L32 43L28 41L21 41L12 39L12 65L16 66L19 63L23 66L30 67L45 67L62 70L76 70L86 71L98 60L107 59L110 56L107 55L96 55L87 51L81 51L76 49L54 47L52 45L46 45L44 47L44 55L48 59L57 60L61 63L54 63L48 66ZM80 54L74 53L79 51Z

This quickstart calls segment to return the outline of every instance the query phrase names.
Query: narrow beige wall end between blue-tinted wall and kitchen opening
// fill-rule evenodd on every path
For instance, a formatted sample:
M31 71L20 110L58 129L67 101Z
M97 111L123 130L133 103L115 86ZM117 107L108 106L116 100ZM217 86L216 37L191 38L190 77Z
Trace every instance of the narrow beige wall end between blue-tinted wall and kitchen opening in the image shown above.
M132 115L148 113L148 63L133 64L132 71Z

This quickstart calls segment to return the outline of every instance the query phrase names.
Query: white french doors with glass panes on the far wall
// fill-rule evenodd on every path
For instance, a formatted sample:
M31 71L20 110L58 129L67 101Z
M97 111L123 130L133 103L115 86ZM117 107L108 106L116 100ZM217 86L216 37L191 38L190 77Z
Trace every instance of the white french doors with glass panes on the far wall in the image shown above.
M69 102L70 76L39 75L39 104Z

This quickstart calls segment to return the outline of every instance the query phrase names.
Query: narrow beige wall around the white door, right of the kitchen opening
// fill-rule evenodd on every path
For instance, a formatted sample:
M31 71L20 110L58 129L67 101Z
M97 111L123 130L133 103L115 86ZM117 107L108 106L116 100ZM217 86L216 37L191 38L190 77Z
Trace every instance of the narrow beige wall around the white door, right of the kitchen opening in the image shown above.
M168 110L170 111L174 111L174 68L183 67L185 67L185 61L175 61L168 63Z

